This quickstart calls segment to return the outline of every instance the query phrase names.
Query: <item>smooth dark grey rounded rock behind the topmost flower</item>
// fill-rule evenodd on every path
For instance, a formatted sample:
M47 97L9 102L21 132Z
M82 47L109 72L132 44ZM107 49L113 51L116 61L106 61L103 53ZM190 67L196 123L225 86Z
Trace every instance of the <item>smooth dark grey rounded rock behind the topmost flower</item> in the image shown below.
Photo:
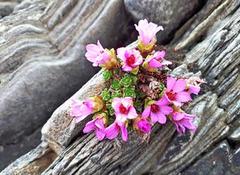
M148 19L164 27L159 42L169 41L173 33L200 8L198 0L124 0L135 22Z

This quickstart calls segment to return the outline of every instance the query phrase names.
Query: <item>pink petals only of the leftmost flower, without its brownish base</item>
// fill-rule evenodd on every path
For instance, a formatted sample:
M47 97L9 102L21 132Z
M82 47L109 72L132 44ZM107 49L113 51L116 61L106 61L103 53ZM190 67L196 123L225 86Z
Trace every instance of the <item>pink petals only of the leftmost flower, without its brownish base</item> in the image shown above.
M85 101L72 100L70 115L78 123L94 112L93 106L93 101L89 99Z

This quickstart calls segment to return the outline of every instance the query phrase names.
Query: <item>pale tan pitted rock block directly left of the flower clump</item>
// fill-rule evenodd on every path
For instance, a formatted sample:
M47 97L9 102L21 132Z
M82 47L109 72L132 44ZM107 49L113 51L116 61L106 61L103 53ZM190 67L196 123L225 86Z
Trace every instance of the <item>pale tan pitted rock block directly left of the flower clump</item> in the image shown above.
M135 45L135 43L133 43ZM132 46L129 46L132 47ZM86 121L75 123L69 115L72 99L85 99L95 96L105 88L102 72L98 72L92 77L79 91L77 91L70 99L58 107L51 118L42 128L42 140L49 144L56 153L60 154L69 144L69 142L79 134L83 129Z

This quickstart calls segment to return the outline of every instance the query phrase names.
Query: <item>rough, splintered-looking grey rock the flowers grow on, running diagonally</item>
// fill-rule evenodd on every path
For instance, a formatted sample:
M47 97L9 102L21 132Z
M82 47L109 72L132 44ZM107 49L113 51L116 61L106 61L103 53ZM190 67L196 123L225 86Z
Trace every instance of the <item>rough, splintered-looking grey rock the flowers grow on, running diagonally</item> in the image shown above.
M207 81L202 94L186 109L198 116L195 134L177 135L174 127L167 124L154 128L149 143L142 142L133 133L127 143L118 139L99 142L93 134L81 133L86 121L74 123L69 116L71 100L67 100L43 127L39 147L9 165L2 174L238 175L239 14L240 2L210 0L177 32L168 46L185 51L182 65L173 74L191 71L200 73ZM61 16L54 19L59 18ZM48 17L43 21L46 19L51 28L54 22ZM61 42L57 46L60 47ZM104 86L100 72L73 98L95 95Z

